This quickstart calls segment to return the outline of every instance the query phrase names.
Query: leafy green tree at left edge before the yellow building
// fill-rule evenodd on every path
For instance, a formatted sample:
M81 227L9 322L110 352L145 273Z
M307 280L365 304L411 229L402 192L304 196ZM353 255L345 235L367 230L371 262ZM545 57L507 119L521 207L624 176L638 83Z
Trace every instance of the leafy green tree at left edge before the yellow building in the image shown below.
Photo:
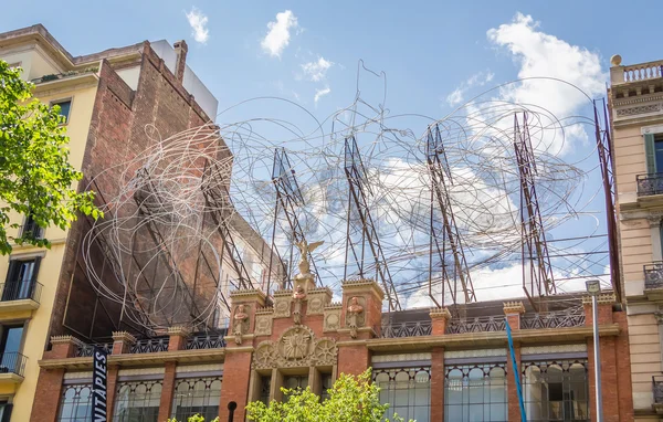
M33 84L21 80L19 68L0 60L0 254L9 254L12 243L46 246L34 233L9 236L18 229L12 211L32 215L40 228L66 229L82 212L103 217L94 205L94 192L76 192L72 187L83 175L69 162L69 137L62 126L60 107L49 107L32 97Z

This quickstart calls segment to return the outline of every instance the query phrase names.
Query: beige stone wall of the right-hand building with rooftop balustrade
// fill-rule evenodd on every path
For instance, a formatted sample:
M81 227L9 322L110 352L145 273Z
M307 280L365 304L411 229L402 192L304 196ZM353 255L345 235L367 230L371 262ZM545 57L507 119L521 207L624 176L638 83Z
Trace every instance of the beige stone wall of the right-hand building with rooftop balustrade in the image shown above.
M663 261L660 235L663 194L649 192L642 182L639 187L638 177L656 180L656 175L661 175L663 180L663 172L648 176L651 167L645 152L645 135L663 135L663 67L656 67L663 61L632 66L622 66L620 62L613 59L609 102L633 407L635 420L656 421L663 415L663 407L654 400L653 382L653 377L663 374L660 318L663 288L645 285L645 266L652 268L653 263ZM660 272L663 275L663 268Z

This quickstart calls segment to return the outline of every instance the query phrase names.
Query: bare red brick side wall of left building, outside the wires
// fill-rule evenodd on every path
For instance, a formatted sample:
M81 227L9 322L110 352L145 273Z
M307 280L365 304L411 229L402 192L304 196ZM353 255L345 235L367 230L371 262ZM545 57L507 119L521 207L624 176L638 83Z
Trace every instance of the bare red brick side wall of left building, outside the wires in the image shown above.
M95 178L98 190L110 197L118 191L119 175L126 170L118 165L131 159L155 143L146 135L147 125L154 125L159 136L167 138L209 120L150 49L149 43L146 42L143 48L144 55L139 62L140 76L136 92L131 91L107 61L103 61L99 67L99 83L83 159L83 172L88 180ZM95 187L93 190L96 190ZM112 330L126 329L138 333L138 327L126 325L126 321L120 324L118 304L107 299L96 303L97 296L86 281L80 255L81 235L88 230L88 226L87 221L81 220L70 232L50 334L73 334L88 339L107 337ZM151 243L154 240L146 233L138 233L136 242ZM94 252L92 256L98 261L95 262L98 271L103 265L103 253ZM80 261L78 265L75 264L76 257ZM140 256L137 259L140 261ZM135 262L125 262L125 264L126 267L136 265ZM159 266L160 271L167 271L165 265ZM192 256L191 263L182 264L182 271L187 274L196 274L194 266L196 256ZM104 272L103 277L113 278L109 268ZM198 274L198 278L199 292L213 284L210 281L211 274L201 273ZM69 302L65 315L67 296L75 299ZM92 316L95 307L97 313L93 325Z

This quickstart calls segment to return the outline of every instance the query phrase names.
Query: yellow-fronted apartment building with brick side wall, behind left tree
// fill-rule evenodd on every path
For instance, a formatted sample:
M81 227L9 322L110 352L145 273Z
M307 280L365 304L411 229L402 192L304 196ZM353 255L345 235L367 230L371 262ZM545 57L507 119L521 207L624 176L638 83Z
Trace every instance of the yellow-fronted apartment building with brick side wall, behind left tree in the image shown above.
M23 70L22 77L35 84L36 98L60 105L71 163L85 177L82 189L131 151L154 143L145 135L146 125L167 137L213 122L218 101L187 65L187 50L183 41L170 45L161 40L72 56L41 24L0 33L0 60ZM106 175L96 183L112 191L116 180L112 171ZM91 342L128 329L117 306L104 303L81 271L81 239L88 220L61 230L36 228L24 215L13 218L22 222L20 230L39 231L52 247L15 246L11 256L0 260L0 272L7 274L0 299L3 422L30 420L39 361L51 348L51 336L72 335ZM265 245L260 236L236 218L232 230L243 254L262 265Z

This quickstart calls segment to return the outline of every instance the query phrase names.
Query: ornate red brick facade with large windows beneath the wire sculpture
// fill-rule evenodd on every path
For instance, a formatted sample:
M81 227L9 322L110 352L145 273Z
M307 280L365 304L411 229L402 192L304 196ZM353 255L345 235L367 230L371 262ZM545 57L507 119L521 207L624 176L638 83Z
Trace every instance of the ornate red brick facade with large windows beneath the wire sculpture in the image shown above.
M115 333L108 345L114 420L133 409L154 421L197 412L243 421L246 402L282 400L280 387L309 386L324 395L339 373L371 367L381 400L402 416L520 421L505 324L513 330L527 420L596 420L588 297L551 298L540 314L520 302L467 305L464 316L452 317L446 308L382 314L382 291L372 281L344 283L340 303L327 288L302 287L275 292L271 304L261 291L234 292L225 337L173 327L150 344ZM613 295L600 296L604 420L632 421L627 320L615 309ZM52 344L40 362L34 422L71 421L90 411L91 346L71 336ZM118 398L136 386L158 386L158 392Z

